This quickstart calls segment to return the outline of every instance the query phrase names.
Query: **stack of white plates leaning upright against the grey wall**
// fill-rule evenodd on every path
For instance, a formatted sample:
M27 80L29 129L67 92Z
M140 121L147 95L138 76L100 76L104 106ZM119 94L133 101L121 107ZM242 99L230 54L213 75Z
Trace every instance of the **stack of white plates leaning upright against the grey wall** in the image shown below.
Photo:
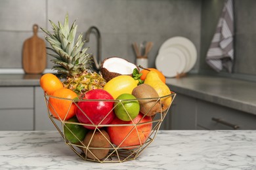
M190 71L197 58L196 46L185 37L172 37L163 42L156 57L156 69L166 77Z

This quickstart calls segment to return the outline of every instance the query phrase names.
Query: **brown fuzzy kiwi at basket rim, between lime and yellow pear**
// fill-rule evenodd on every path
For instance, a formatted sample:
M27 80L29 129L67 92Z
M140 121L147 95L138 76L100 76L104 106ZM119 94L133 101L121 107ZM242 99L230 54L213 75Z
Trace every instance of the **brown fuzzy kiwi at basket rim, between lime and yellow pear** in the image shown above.
M158 92L148 84L140 84L133 89L132 95L139 100L140 112L146 116L154 116L156 113L161 112L161 105L158 101ZM155 98L155 99L142 99L142 98Z

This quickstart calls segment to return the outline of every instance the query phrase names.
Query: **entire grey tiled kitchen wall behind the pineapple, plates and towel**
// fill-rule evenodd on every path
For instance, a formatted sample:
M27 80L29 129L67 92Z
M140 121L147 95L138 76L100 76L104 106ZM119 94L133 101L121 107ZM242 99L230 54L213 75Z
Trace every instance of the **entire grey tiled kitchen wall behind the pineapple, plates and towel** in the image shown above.
M33 35L32 26L51 29L49 19L63 22L66 12L76 20L78 33L91 25L102 35L102 58L119 56L135 62L132 42L152 41L149 67L161 44L170 37L183 36L196 45L195 73L215 73L205 63L205 55L223 8L223 0L1 0L0 70L22 69L22 44ZM234 73L217 75L256 76L256 1L234 0ZM29 10L28 10L29 9ZM39 30L39 37L44 34ZM91 35L90 53L96 53L96 37ZM49 56L48 56L49 57ZM51 61L47 67L51 68ZM171 63L170 63L171 65ZM256 78L255 78L256 80Z

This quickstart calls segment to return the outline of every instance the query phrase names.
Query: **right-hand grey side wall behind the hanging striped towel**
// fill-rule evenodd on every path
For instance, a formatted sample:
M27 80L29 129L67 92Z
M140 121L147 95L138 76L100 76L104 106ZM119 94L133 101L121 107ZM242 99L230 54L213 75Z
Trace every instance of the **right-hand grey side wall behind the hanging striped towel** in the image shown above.
M215 73L205 63L205 55L221 15L223 2L216 0L202 1L200 72L256 80L256 1L254 0L234 0L234 72L232 74L226 73L226 71Z

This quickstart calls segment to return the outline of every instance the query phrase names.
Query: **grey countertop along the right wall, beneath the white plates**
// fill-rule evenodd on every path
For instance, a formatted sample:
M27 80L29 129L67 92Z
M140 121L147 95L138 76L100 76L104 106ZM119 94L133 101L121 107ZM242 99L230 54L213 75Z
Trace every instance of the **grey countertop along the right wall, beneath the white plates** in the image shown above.
M178 95L181 93L256 115L256 82L188 75L182 78L167 78L166 84Z

